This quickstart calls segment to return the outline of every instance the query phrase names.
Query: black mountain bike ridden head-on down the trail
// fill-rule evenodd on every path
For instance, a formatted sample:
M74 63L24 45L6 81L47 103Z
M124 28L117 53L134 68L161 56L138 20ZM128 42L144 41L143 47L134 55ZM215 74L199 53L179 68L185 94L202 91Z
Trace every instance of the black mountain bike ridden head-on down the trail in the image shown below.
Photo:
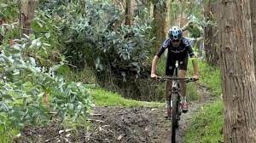
M182 114L182 107L181 107L181 98L180 98L180 87L179 82L180 80L184 80L184 82L195 82L192 77L177 77L178 71L178 62L176 61L174 75L173 77L157 77L158 80L166 81L172 80L172 89L171 94L168 96L168 105L171 108L168 108L168 117L171 119L171 112L172 112L172 143L176 141L176 129L178 128L178 120ZM172 97L172 98L171 98Z

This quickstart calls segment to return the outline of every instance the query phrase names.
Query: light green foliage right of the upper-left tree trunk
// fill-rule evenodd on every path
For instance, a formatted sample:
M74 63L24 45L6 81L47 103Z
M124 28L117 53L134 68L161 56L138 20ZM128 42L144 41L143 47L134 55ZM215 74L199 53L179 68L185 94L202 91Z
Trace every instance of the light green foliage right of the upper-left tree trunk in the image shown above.
M33 34L30 35L32 40L40 37L39 40L44 42L41 49L32 49L32 54L39 60L42 66L53 66L55 63L67 63L65 57L60 54L57 48L60 46L58 41L59 27L55 25L52 15L40 11L32 20ZM67 69L68 70L68 69Z

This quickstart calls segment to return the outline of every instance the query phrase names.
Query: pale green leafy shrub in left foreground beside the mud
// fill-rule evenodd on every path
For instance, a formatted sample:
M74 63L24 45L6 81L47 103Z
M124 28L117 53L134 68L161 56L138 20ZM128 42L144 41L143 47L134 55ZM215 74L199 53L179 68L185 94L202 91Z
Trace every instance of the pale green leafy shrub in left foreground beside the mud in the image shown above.
M61 64L49 68L38 65L32 51L48 43L34 35L16 39L15 45L1 45L0 54L0 124L4 130L49 121L49 112L57 112L61 120L85 116L90 106L90 94L81 83L66 83L55 75ZM50 95L49 108L42 97Z

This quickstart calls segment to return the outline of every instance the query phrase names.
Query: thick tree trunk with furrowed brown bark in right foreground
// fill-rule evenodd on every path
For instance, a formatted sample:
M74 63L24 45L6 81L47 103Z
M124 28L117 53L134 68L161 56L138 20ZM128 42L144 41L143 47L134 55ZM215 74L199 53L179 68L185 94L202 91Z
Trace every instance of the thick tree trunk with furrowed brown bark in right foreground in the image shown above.
M256 81L249 1L218 0L224 142L256 142Z

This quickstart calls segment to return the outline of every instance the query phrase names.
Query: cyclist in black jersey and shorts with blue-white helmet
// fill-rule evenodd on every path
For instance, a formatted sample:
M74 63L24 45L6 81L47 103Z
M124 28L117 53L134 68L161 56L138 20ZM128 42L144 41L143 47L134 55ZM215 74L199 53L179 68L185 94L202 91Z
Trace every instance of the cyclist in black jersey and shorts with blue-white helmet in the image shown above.
M195 60L195 54L193 53L193 50L191 46L189 45L188 40L183 37L183 31L178 27L178 26L172 26L172 28L168 31L168 38L162 43L159 51L157 54L154 55L154 59L152 61L152 68L151 68L151 77L156 79L156 67L157 67L157 62L161 56L167 51L166 55L166 76L171 77L174 72L175 68L175 63L176 60L179 62L179 71L178 71L178 77L185 77L186 76L186 71L187 71L187 66L188 66L188 58L192 59L192 64L194 68L194 74L193 78L195 80L198 79L199 73L198 73L198 65ZM168 108L171 108L169 105L168 95L169 92L172 88L172 81L167 80L166 81L166 86L165 86L165 94L166 94L166 108L164 112L164 116L168 117ZM188 112L188 104L186 100L186 83L184 81L181 81L181 105L182 105L182 110L183 112Z

